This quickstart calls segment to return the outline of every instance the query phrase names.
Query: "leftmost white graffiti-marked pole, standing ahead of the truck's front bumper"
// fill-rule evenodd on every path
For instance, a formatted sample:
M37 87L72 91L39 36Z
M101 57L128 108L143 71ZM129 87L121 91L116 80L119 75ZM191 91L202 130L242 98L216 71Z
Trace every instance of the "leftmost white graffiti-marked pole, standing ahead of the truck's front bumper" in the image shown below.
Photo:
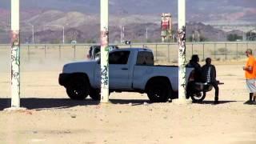
M11 0L11 107L6 110L22 109L20 107L20 38L19 37L20 37L19 0Z

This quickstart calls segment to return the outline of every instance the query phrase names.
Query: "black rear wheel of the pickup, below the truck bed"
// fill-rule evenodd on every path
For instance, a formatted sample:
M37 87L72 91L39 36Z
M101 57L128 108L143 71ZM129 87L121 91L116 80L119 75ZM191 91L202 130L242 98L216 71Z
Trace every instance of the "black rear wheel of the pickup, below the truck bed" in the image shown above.
M172 90L169 82L158 78L148 83L146 93L150 102L166 102L168 98L171 98Z

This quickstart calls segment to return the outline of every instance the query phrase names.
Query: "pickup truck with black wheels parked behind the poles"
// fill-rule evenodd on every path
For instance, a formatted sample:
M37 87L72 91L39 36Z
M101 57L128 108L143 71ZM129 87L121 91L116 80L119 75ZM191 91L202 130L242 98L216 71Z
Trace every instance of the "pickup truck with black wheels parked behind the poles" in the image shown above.
M144 48L112 50L109 54L110 92L146 93L151 102L166 102L178 93L178 66L154 66L154 55ZM186 68L186 80L192 75ZM70 62L59 74L59 84L72 99L88 95L100 99L100 60Z

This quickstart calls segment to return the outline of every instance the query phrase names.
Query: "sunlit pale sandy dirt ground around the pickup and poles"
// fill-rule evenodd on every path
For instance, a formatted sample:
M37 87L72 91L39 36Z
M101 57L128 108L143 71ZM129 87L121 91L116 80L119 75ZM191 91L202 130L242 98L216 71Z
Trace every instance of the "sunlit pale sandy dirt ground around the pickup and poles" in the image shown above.
M255 144L256 105L246 105L243 62L218 63L214 90L202 104L149 103L146 94L113 93L109 104L70 100L56 70L22 70L21 104L10 107L10 73L0 72L0 143Z

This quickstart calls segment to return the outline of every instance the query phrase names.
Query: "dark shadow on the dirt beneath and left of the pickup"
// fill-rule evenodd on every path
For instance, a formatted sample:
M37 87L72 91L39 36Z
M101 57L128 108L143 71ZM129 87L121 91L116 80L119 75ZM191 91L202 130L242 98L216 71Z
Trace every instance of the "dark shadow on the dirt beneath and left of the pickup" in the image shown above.
M142 105L148 100L134 99L110 99L113 104L129 104L133 106ZM74 106L90 106L98 105L98 101L86 99L82 101L71 100L70 98L21 98L21 106L29 110L44 110L44 109L66 109ZM4 110L11 106L10 98L0 98L0 110Z

